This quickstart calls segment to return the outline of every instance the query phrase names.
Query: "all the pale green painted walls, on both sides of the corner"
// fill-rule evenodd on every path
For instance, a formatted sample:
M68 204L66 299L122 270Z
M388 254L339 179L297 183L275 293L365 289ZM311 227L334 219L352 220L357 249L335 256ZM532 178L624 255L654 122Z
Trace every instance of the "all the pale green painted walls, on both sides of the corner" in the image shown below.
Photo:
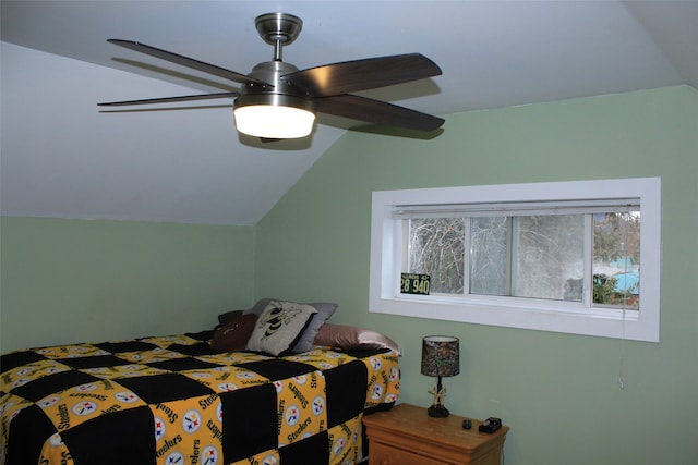
M661 343L368 311L373 191L625 176L662 178ZM507 465L695 464L696 211L691 87L449 115L431 140L351 132L256 228L3 217L0 351L207 329L264 296L333 301L333 322L400 343L404 402L431 402L421 338L458 335L446 404L504 418Z

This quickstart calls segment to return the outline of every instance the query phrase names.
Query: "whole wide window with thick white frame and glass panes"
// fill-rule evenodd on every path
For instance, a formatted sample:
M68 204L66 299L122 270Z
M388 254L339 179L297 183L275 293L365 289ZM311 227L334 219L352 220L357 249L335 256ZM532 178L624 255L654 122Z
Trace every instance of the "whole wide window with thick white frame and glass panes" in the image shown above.
M659 179L373 194L370 310L659 341ZM402 273L429 277L406 294Z

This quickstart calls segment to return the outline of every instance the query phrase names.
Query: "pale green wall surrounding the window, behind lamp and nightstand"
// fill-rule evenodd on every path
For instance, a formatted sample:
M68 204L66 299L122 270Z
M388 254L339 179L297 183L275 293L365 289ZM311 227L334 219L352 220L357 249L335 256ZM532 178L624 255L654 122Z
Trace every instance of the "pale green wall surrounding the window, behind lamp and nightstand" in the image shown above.
M661 176L661 343L370 314L371 193ZM449 115L432 140L351 132L256 228L255 297L339 304L333 322L404 350L401 401L429 405L422 335L461 339L446 405L512 427L507 465L698 463L698 91L681 86ZM621 367L626 387L617 384Z

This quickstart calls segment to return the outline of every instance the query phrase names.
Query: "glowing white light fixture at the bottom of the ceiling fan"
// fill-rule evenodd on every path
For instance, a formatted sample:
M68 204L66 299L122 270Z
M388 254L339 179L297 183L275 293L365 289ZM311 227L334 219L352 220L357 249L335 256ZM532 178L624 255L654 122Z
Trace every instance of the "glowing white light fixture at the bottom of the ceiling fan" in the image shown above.
M263 138L299 138L313 131L311 101L282 94L240 96L233 114L239 132Z

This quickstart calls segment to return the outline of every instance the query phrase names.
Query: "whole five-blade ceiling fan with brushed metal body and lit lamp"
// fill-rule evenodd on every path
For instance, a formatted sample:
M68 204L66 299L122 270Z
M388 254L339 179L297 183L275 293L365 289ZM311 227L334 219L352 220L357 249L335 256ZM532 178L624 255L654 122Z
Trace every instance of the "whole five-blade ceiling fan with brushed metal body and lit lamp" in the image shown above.
M288 13L267 13L255 19L262 39L274 46L274 58L240 74L193 58L145 44L108 41L141 53L188 66L242 84L240 91L152 98L97 103L103 107L169 103L236 98L233 113L239 132L263 139L304 137L312 132L315 113L365 121L373 124L434 131L444 120L385 101L352 95L442 74L436 63L420 53L345 61L300 71L282 61L282 47L296 40L303 22Z

